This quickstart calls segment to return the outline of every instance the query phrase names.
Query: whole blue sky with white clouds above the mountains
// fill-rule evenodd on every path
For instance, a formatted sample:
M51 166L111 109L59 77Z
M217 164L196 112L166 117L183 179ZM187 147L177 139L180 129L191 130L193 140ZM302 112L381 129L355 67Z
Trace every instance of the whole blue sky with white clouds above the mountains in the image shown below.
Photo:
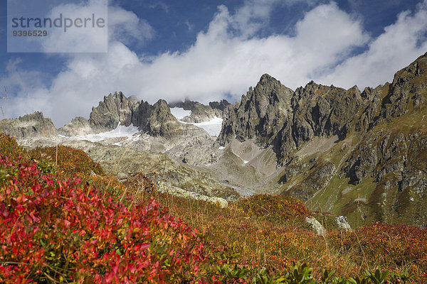
M113 0L108 34L108 53L7 53L2 41L4 118L41 110L59 127L115 91L150 103L236 102L264 73L292 89L376 87L427 52L427 0Z

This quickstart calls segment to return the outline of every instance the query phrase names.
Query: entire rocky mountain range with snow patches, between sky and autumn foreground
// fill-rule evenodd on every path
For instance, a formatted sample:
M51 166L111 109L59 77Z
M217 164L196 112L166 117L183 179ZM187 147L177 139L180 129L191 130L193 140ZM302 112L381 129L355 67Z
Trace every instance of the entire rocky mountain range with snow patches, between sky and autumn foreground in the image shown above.
M239 102L155 104L115 92L56 129L41 112L0 121L23 146L82 148L125 180L142 171L197 198L292 195L352 226L427 225L427 53L361 91L262 75Z

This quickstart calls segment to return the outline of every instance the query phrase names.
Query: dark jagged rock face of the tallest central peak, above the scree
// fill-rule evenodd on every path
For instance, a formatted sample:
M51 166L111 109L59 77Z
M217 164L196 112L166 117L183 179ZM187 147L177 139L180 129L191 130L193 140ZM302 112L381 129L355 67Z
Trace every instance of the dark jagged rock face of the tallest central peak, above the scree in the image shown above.
M218 139L225 144L233 138L255 138L259 146L272 145L283 161L315 136L344 138L361 105L357 87L345 90L310 82L293 92L265 74L229 110Z

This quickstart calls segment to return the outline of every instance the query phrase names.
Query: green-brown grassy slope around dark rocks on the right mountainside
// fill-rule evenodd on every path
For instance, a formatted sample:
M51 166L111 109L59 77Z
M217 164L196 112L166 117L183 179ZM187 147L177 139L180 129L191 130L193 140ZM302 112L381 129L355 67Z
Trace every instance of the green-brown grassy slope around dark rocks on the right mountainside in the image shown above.
M308 194L312 195L312 197L307 200L306 204L311 209L345 215L349 218L349 223L356 227L363 224L372 224L373 222L417 224L416 220L419 220L420 214L422 214L418 209L422 204L426 204L427 196L414 194L411 192L411 187L403 193L398 192L397 186L384 190L384 182L376 182L374 178L369 177L354 185L349 178L345 178L342 174L342 166L350 155L358 155L357 146L373 141L371 147L379 147L386 134L390 135L389 143L399 135L408 137L417 133L418 136L426 137L426 109L426 103L417 107L409 104L408 112L404 116L381 123L371 129L369 133L349 133L349 136L344 141L339 141L325 153L315 153L303 158L296 165L291 164L291 167L302 167L302 170L282 185L280 191L292 192L292 194L295 194L295 189L302 190L304 194L309 192ZM398 153L394 159L399 160L402 155L408 155L409 163L413 167L423 170L422 166L425 165L427 160L425 147L410 145L408 153ZM314 159L316 159L316 162L310 163L310 160ZM311 175L325 161L333 163L337 171L330 182L327 183L327 186L317 192L312 186L308 186L305 181L310 180ZM394 163L394 160L387 160L386 163ZM386 164L383 163L382 165ZM376 170L379 170L379 168L377 167ZM393 173L389 173L384 177L384 181L394 179L396 177L394 177ZM384 192L386 192L386 197L382 198L381 194ZM414 201L409 201L410 198ZM396 212L396 203L400 204L400 212Z

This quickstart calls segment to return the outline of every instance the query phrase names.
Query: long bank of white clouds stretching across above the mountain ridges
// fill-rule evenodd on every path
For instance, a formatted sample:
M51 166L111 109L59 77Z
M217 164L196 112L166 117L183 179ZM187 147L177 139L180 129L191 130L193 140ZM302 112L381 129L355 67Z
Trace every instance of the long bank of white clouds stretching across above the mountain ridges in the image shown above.
M130 11L110 9L113 36L107 54L70 56L49 87L38 82L36 74L19 70L15 64L9 76L0 81L19 90L19 98L9 104L8 115L30 112L31 106L62 126L75 116L88 117L91 107L115 91L135 94L151 103L185 97L209 102L226 94L240 99L265 72L293 89L310 80L342 87L376 86L391 80L397 69L427 47L425 38L417 43L427 31L426 4L413 15L401 13L378 38L369 38L360 21L334 2L307 11L292 36L257 37L279 4L248 0L234 13L219 6L207 31L200 32L188 50L154 58L137 55L123 43L150 38L154 31L148 23ZM122 15L131 21L120 21ZM132 32L135 27L138 32ZM352 56L354 48L361 47L367 51ZM19 75L33 77L33 82L23 82Z

